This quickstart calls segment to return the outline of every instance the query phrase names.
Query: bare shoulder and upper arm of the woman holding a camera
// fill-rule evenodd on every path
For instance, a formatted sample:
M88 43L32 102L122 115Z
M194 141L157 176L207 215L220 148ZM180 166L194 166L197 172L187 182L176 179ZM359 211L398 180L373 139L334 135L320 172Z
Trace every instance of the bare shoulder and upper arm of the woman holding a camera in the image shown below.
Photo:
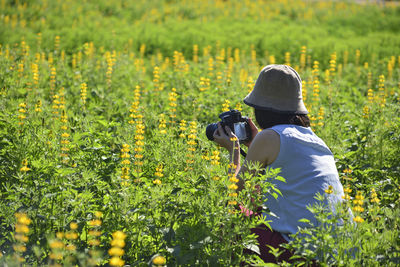
M280 137L274 130L266 129L259 132L248 150L246 160L261 162L264 166L271 164L278 157Z

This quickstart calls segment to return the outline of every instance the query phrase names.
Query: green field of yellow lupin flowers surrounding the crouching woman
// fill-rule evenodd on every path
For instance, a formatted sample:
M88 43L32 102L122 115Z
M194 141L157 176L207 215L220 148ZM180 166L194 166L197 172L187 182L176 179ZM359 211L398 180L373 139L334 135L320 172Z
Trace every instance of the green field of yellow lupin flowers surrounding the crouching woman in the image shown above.
M254 118L242 100L275 63L345 189L338 214L310 207L291 264L398 266L400 6L300 0L0 0L0 264L262 265L243 249L263 219L235 207L282 177L237 192L205 128Z

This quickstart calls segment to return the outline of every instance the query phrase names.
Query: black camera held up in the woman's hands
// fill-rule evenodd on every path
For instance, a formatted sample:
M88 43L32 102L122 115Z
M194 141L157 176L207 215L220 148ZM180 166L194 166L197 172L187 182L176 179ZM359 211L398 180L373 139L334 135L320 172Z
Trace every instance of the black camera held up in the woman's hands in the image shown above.
M248 118L243 117L240 111L236 109L232 109L227 112L223 112L219 115L221 119L221 126L224 132L225 126L228 126L232 132L237 136L239 142L250 141L251 138L251 129L248 123ZM218 123L211 123L206 128L207 138L211 141L214 140L214 132L218 128Z

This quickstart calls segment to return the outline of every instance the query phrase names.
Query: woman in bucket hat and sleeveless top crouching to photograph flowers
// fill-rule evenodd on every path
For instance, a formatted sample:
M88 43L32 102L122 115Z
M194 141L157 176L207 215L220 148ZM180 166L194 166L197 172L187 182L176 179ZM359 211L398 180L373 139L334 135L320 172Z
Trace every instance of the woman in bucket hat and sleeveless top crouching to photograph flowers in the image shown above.
M333 191L328 202L333 206L341 201L343 187L335 166L332 152L326 144L314 134L307 117L308 111L302 100L301 79L298 73L286 65L268 65L260 72L254 89L244 99L244 103L254 108L258 132L249 120L252 129L248 153L244 164L240 165L238 141L229 127L225 131L221 126L214 133L217 144L225 147L231 154L236 166L235 175L239 179L239 190L243 188L241 173L247 171L248 162L260 163L263 167L280 168L280 176L286 182L274 182L282 196L268 198L266 206L276 217L265 214L270 220L273 231L266 227L257 227L252 232L258 235L261 258L266 262L275 262L275 257L266 245L279 247L290 240L290 235L298 227L305 227L299 220L306 218L317 224L307 206L315 203L315 195L324 190ZM237 138L236 138L237 140ZM288 260L290 252L285 250L279 260Z

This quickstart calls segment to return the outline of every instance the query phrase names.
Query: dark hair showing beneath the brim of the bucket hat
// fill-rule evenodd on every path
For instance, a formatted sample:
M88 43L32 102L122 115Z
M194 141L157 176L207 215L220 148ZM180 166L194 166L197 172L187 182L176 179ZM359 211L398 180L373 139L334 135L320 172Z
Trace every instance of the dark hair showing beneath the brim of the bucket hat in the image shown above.
M306 114L282 113L272 110L254 109L258 125L262 129L271 128L278 124L293 124L310 127L310 119Z

